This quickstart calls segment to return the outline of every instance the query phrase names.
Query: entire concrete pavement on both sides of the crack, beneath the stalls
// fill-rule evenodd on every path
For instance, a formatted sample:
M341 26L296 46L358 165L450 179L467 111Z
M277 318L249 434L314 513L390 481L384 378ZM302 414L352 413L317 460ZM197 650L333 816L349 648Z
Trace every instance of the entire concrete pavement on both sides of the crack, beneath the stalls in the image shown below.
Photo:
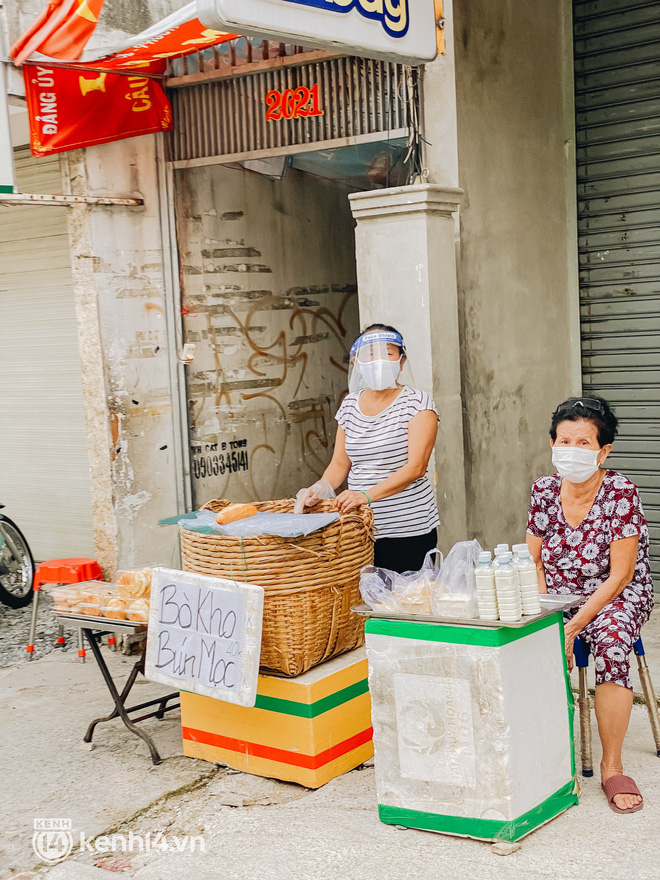
M643 637L660 688L655 619ZM128 674L132 659L107 651L105 656L117 678ZM591 676L593 681L593 669ZM162 692L162 686L143 682L133 701ZM444 873L474 880L614 880L623 872L656 880L660 874L660 760L644 706L633 709L625 747L626 771L644 794L644 809L618 816L607 808L597 778L581 780L580 805L506 858L488 844L382 825L373 769L353 771L314 792L184 758L178 712L144 722L165 757L159 766L118 720L101 725L97 747L84 751L88 722L109 709L109 694L91 661L83 665L71 655L50 654L0 671L3 880L32 877L37 870L48 880L103 880L108 872L137 880L399 880L410 874L437 880ZM595 721L593 744L597 766ZM55 868L39 868L32 834L34 819L41 817L71 818L74 831L88 837L108 831L201 835L206 851L74 854Z

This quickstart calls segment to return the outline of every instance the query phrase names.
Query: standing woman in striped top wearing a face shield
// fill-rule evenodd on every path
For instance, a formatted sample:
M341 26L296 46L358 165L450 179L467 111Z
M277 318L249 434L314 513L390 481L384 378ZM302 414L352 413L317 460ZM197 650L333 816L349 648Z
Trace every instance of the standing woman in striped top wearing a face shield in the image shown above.
M349 393L336 415L332 461L299 500L312 505L323 484L336 490L348 478L337 508L348 513L365 502L373 507L374 564L418 570L437 543L438 511L426 470L438 412L426 392L406 384L406 347L394 327L367 327L350 357Z

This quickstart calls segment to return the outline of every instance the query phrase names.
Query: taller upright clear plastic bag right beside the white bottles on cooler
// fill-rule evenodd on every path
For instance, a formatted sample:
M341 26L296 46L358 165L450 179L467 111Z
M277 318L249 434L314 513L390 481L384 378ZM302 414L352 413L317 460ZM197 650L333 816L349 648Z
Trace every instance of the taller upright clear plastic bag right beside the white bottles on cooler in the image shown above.
M459 541L451 548L431 590L436 617L478 617L474 570L480 552L478 541Z

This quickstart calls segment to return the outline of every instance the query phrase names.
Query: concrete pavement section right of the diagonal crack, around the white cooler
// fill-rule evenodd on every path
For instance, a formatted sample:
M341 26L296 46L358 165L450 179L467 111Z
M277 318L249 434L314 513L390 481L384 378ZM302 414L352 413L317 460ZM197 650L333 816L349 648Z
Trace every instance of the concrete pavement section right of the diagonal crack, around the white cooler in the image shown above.
M595 755L599 758L596 742ZM611 812L597 779L584 780L581 802L522 841L519 851L500 857L473 840L383 825L376 811L373 769L353 771L315 792L286 802L297 788L259 780L283 803L226 805L216 777L197 791L169 799L120 831L152 835L165 829L202 835L205 852L137 853L83 857L63 863L48 880L103 880L107 869L123 868L135 880L657 880L660 823L660 760L649 748L644 707L635 706L626 748L626 769L638 780L644 809L631 816ZM253 777L252 777L253 779ZM243 774L232 777L241 789ZM258 788L258 790L259 790ZM268 797L265 798L268 801ZM277 800L277 797L275 797ZM96 866L95 866L96 865Z

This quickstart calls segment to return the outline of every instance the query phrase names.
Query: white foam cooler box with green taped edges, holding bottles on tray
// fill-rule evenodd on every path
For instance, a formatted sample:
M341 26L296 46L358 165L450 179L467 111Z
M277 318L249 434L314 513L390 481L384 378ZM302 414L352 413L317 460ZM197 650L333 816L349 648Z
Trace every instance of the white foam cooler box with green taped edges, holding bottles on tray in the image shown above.
M519 840L577 804L561 612L526 626L371 618L382 822Z

